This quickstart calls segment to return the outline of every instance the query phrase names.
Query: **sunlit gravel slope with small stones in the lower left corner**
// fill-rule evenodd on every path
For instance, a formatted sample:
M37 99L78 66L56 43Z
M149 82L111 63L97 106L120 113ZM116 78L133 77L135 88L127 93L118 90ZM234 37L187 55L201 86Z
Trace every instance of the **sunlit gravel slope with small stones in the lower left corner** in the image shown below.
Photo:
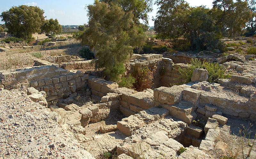
M25 92L0 91L0 159L93 159L59 120Z

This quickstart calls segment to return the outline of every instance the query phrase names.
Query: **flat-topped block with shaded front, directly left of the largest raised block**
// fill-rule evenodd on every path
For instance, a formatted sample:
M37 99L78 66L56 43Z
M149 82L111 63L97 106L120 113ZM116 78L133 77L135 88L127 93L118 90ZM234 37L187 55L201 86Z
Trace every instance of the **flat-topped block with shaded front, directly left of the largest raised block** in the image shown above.
M154 96L148 92L137 92L129 96L129 102L143 109L154 107Z

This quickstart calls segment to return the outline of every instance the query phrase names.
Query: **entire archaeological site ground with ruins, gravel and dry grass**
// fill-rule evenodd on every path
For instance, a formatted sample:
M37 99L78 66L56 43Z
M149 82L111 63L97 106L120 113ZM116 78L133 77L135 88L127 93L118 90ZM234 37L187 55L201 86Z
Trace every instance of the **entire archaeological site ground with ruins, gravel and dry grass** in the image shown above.
M152 72L142 91L104 80L79 42L1 43L0 159L255 159L256 60L241 52L256 40L222 41L237 46L133 54L127 73ZM228 78L207 82L197 68L186 83L179 69L191 59L217 62Z

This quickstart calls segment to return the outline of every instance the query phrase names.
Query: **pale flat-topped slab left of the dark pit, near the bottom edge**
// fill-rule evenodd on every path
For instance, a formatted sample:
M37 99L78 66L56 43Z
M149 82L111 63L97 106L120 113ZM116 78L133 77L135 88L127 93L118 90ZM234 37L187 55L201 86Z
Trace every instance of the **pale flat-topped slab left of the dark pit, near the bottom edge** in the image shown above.
M169 139L166 133L166 131L158 131L145 139L145 142L148 143L150 146L160 146Z

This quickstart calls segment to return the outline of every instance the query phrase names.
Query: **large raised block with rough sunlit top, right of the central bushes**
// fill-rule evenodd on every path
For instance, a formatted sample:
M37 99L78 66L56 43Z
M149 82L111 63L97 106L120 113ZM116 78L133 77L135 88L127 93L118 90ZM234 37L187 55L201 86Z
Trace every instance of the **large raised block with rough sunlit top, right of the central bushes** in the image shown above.
M154 89L154 99L163 104L178 103L183 96L183 88L177 85L172 87L159 87Z

